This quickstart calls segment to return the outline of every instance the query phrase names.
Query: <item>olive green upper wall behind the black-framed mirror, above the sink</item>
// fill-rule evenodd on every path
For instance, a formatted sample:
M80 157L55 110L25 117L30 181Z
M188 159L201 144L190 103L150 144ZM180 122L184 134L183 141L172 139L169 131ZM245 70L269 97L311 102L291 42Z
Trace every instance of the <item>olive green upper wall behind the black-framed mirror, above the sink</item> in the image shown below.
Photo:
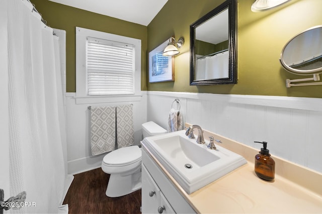
M237 1L238 83L190 86L189 26L224 0L169 0L147 27L147 51L171 36L177 40L184 37L185 45L175 57L175 81L147 83L147 90L322 98L322 85L286 88L286 79L306 77L286 72L279 62L281 50L289 39L322 24L322 1L292 0L273 10L253 13L254 1Z

